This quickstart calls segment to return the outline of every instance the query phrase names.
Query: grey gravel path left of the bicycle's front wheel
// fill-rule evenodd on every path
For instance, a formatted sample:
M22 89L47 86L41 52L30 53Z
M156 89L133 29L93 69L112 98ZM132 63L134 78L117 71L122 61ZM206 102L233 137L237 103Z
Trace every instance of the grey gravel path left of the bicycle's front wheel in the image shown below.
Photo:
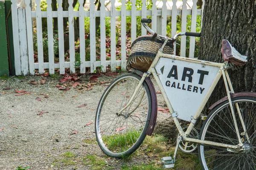
M81 83L88 84L89 77L91 75L82 77ZM43 85L28 83L40 82L42 77L39 76L0 79L0 170L16 170L19 166L30 167L29 170L90 170L93 169L92 159L88 159L88 155L104 159L105 169L122 169L123 164L149 161L147 156L132 157L128 162L107 158L99 149L94 119L99 99L107 86L98 83L88 91L72 86L70 90L62 91L55 87L63 84L58 79L43 78L47 79ZM102 75L98 82L112 79ZM16 96L15 90L30 94ZM83 104L87 106L78 108ZM38 115L41 112L48 113ZM158 113L158 117L167 116ZM90 125L86 125L88 123ZM68 158L72 161L68 162Z

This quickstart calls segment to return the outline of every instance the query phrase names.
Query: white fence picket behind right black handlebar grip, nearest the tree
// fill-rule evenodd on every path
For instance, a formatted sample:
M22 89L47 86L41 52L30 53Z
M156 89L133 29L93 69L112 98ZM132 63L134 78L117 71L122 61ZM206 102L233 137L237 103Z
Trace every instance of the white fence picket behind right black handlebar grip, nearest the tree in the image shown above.
M192 6L192 16L191 16L191 32L195 32L196 30L196 15L197 15L197 0L193 0ZM195 37L190 37L189 42L189 58L195 57Z

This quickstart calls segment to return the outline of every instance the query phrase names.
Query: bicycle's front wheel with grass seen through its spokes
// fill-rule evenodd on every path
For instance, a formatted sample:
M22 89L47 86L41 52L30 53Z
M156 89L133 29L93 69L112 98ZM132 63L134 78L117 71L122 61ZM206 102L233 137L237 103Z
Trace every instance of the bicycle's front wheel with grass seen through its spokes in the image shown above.
M145 139L151 116L151 94L145 81L131 105L117 114L127 105L140 79L139 75L132 73L116 78L99 101L95 133L99 147L108 156L128 156Z

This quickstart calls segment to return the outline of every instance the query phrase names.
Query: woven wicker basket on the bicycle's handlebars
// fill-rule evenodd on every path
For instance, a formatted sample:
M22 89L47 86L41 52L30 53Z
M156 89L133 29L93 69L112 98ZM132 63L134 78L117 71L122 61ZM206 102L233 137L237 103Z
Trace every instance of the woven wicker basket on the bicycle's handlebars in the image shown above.
M162 45L163 40L152 36L146 35L136 38L131 44L131 53L126 63L127 70L134 68L143 72L148 71ZM163 53L173 54L173 44L168 42Z

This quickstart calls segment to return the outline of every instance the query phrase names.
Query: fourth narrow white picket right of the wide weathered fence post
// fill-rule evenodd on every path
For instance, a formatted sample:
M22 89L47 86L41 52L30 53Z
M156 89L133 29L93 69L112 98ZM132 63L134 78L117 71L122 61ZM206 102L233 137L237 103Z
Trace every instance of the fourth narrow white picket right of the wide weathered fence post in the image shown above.
M58 1L58 43L59 43L59 65L60 74L65 74L64 60L64 28L63 28L63 8L62 0Z

